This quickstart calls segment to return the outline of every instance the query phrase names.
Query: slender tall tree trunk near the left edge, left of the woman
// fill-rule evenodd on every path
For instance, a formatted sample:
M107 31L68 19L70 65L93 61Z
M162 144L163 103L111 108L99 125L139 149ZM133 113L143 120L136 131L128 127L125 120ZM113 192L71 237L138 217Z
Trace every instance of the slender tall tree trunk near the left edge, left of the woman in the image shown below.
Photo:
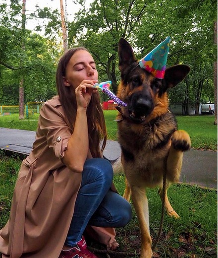
M21 42L22 42L22 51L25 50L24 44L24 32L25 32L25 23L26 23L26 0L23 0L22 4L22 27L21 27ZM22 59L20 60L20 66L22 66ZM22 78L19 84L19 119L24 119L24 75L21 74Z

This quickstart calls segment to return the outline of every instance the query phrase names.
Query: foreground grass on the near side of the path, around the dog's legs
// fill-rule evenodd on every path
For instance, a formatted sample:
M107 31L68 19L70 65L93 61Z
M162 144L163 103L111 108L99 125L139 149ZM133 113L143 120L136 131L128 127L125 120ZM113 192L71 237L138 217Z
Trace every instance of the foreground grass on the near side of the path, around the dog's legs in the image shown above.
M0 152L0 228L5 225L9 217L13 188L20 164L21 160L18 157L7 157ZM124 175L115 175L114 184L122 195ZM159 230L162 204L158 189L148 189L147 196L151 235L155 239ZM217 191L175 184L169 188L168 196L173 208L180 215L180 219L164 217L163 232L155 257L217 257ZM120 251L135 253L134 256L129 254L126 257L139 258L139 225L134 208L132 210L131 222L124 228L116 230L116 240L120 244Z

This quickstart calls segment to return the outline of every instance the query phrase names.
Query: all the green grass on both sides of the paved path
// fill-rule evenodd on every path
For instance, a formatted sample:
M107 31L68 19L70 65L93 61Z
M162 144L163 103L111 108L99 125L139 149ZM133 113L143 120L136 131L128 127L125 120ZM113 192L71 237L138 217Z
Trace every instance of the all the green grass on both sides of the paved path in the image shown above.
M116 111L105 111L109 139L116 140ZM36 130L38 115L20 121L18 115L0 117L0 127ZM178 128L186 130L196 149L217 150L217 126L214 116L178 116ZM0 152L0 228L9 217L13 188L21 160L6 157ZM124 175L115 175L114 183L122 195ZM161 200L157 189L148 189L151 235L155 239L161 218ZM172 185L168 197L180 219L165 216L163 232L154 255L156 258L211 258L217 257L217 191L201 189L186 184ZM120 251L129 252L126 257L138 258L140 232L136 214L126 227L116 230ZM99 257L102 257L99 255ZM111 258L117 256L110 255Z

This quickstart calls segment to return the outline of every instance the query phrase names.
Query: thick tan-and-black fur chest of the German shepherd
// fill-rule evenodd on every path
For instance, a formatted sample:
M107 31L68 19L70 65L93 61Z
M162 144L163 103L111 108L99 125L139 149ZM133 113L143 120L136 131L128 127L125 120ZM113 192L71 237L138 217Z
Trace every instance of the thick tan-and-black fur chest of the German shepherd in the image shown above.
M132 125L128 121L118 123L118 141L122 150L125 173L132 174L148 186L158 185L176 129L174 119L160 119L156 123Z

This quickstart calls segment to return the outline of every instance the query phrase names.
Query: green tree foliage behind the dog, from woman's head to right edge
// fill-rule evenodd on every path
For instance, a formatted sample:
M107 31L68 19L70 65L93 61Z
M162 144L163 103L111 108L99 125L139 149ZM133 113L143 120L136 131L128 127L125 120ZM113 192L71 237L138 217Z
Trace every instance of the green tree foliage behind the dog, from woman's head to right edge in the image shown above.
M82 8L69 25L72 45L87 47L99 65L102 79L112 80L116 92L119 80L117 48L125 37L143 57L167 36L171 37L168 65L187 64L191 73L185 82L173 89L171 103L184 106L213 102L214 0L146 1L94 0L89 10ZM188 108L186 108L188 110Z

